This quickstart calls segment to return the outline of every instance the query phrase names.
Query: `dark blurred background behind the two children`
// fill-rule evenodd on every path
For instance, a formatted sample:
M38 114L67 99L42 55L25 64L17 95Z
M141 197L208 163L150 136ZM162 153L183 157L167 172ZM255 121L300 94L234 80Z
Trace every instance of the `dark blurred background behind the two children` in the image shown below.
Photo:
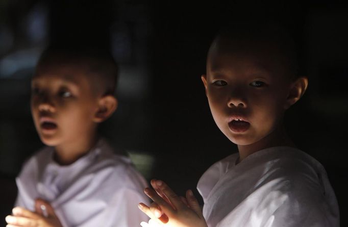
M164 179L184 194L211 164L237 152L216 127L200 80L209 44L228 20L268 18L293 34L310 80L286 128L325 166L341 226L348 226L347 6L255 2L0 1L0 225L16 197L15 176L42 146L30 114L30 78L49 42L110 48L120 67L120 104L101 132L127 150L147 180Z

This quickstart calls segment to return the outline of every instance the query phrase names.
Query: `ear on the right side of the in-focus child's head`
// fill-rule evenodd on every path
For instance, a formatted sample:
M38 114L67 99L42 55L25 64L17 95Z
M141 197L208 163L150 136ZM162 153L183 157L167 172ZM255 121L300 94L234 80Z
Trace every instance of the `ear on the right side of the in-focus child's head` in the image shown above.
M286 98L286 103L284 108L289 109L293 104L295 104L302 95L307 90L308 79L306 77L300 77L291 84L288 97Z

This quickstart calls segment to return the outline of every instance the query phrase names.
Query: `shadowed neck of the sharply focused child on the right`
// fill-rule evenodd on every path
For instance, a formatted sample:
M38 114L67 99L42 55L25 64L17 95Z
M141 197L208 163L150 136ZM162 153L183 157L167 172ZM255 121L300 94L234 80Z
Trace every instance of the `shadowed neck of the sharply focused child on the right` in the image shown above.
M284 127L279 127L278 129L271 132L266 137L261 140L248 144L248 145L238 145L239 160L241 162L247 156L258 152L259 150L266 149L275 146L290 146L295 147L295 144L291 141L290 137L285 132Z

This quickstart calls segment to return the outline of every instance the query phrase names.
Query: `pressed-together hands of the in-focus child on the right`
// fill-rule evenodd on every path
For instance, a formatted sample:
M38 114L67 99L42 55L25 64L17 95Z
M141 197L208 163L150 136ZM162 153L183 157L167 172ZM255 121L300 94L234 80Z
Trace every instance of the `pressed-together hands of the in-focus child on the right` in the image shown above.
M201 207L191 190L186 192L186 199L182 199L162 181L155 180L151 184L157 192L150 188L145 188L144 192L155 203L151 207L139 204L139 209L152 220L142 222L143 226L157 226L151 223L155 221L158 226L207 227ZM166 218L163 215L158 217L158 213L164 213Z

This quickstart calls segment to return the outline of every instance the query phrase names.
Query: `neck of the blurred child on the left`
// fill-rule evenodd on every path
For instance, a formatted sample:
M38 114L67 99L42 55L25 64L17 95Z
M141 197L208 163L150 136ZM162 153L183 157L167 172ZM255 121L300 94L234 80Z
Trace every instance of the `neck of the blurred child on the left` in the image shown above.
M98 136L93 133L90 137L75 139L55 147L54 160L60 165L69 165L86 155L97 142Z

